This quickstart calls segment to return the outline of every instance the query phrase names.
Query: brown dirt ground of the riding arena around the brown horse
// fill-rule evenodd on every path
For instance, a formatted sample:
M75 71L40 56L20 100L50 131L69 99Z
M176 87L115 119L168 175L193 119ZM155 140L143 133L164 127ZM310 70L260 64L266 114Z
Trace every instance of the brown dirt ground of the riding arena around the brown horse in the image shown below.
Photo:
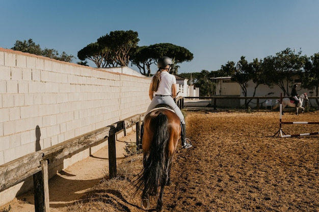
M278 111L185 114L194 147L177 149L173 185L164 191L165 211L319 211L318 135L277 136ZM318 122L319 112L286 112L282 121ZM282 131L319 132L319 126L285 124ZM123 141L134 143L135 134ZM119 156L122 177L112 181L102 179L108 162L105 153L99 154L50 180L50 211L144 211L129 182L142 168L141 155ZM18 197L9 203L10 211L34 211L32 198ZM155 204L152 200L149 211Z

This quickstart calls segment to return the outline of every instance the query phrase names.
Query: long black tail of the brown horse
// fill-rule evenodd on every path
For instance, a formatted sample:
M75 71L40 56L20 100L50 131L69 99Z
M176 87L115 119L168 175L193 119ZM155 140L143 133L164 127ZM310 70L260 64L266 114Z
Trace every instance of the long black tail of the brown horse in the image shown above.
M149 156L145 157L144 163L144 186L146 192L152 196L157 195L158 185L166 175L167 154L166 146L169 140L168 118L165 114L160 113L151 121L154 126L154 135L150 147Z

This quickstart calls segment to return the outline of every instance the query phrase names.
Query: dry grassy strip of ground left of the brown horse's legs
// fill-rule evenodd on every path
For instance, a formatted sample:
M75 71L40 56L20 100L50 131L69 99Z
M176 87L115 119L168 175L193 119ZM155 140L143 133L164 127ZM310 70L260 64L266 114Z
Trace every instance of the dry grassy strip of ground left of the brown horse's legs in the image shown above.
M98 185L92 187L82 200L69 205L66 211L130 211L131 202L134 202L134 198L139 199L134 195L136 189L132 181L141 169L142 155L134 154L126 157L118 164L117 177L109 179L108 175L105 174ZM132 206L136 207L136 205Z

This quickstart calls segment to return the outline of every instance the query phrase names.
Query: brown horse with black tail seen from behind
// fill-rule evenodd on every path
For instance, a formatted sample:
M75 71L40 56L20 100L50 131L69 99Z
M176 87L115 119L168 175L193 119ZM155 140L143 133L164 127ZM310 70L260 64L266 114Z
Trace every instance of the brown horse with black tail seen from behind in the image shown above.
M144 186L141 206L145 210L150 207L149 196L157 196L161 186L156 211L164 211L164 187L171 185L170 171L180 133L180 120L170 109L156 108L144 118L143 171L139 188Z

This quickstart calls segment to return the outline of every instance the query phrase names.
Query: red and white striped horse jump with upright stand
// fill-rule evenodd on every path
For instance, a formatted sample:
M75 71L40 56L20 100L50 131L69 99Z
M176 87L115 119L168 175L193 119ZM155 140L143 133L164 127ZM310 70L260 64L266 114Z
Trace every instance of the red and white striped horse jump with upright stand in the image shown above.
M306 94L305 94L306 95ZM280 107L279 107L279 130L275 133L275 135L278 133L278 136L280 135L282 138L290 138L290 137L300 137L300 136L309 136L309 135L318 135L319 132L314 133L301 133L301 134L293 134L293 135L286 135L282 131L282 124L290 124L290 125L318 125L319 122L282 122L282 94L280 94ZM275 136L274 135L274 136Z

